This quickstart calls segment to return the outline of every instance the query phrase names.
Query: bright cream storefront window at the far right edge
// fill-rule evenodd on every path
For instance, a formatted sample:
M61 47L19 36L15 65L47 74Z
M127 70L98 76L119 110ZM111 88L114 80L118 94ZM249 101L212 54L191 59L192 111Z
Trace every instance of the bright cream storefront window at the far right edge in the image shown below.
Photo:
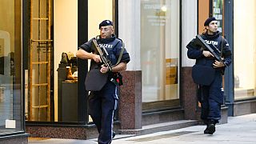
M256 2L234 0L234 98L256 90Z

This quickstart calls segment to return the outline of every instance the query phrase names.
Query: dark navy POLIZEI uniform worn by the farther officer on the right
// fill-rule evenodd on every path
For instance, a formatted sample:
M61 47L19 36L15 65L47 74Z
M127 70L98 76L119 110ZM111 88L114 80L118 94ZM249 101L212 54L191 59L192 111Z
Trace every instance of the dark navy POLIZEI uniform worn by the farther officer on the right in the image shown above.
M222 38L221 33L216 32L214 35L202 34L202 39L213 50L216 46L219 51L222 51L223 62L226 66L230 66L231 51L228 42L225 38ZM188 58L196 59L196 64L213 66L215 59L204 57L201 47L194 44L194 39L186 47ZM218 54L218 50L214 50L215 53ZM223 103L222 73L224 69L225 67L215 69L214 81L210 83L210 86L198 86L198 100L202 103L201 118L206 124L211 122L215 125L221 118L221 105Z

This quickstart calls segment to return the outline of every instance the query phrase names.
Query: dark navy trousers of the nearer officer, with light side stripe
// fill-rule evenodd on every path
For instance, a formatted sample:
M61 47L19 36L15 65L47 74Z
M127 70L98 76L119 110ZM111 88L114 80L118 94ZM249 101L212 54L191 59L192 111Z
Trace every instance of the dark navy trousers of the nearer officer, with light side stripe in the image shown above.
M89 114L98 129L98 143L111 143L114 111L118 107L118 86L107 82L100 91L91 91L88 97Z

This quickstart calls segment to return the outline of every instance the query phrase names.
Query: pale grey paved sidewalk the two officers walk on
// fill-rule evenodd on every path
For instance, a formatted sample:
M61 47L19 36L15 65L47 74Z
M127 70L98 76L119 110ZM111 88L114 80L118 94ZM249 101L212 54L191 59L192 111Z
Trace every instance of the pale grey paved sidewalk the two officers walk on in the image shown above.
M114 138L113 144L255 144L256 143L256 114L229 117L228 123L217 125L213 135L203 134L206 126L190 126L179 130L170 130L154 134L134 136L130 138ZM119 138L118 138L119 137ZM46 139L30 141L31 144L97 144L96 139Z

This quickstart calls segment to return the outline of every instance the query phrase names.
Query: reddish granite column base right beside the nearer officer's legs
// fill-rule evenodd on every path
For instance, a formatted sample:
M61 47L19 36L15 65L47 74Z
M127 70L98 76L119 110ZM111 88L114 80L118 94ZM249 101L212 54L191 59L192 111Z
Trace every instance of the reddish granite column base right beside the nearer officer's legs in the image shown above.
M118 118L121 130L142 128L142 71L123 71Z

